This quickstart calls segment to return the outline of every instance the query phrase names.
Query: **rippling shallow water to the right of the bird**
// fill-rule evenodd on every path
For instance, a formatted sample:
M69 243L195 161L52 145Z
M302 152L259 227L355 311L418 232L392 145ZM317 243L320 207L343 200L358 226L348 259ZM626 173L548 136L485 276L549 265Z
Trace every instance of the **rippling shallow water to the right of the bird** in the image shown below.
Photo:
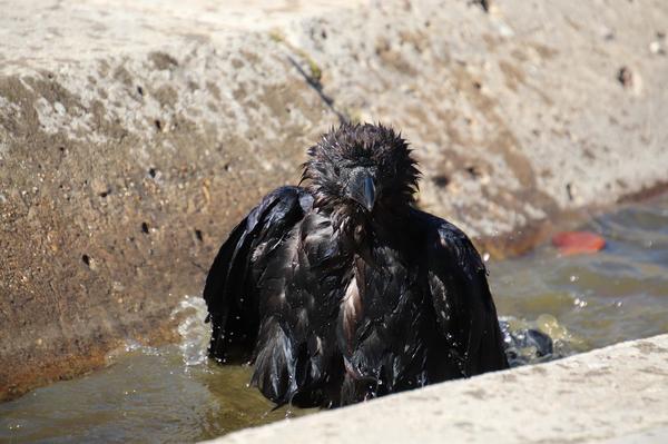
M561 256L542 246L489 264L499 313L540 317L538 326L547 332L553 316L568 333L552 328L550 335L566 334L576 351L667 333L668 196L597 217L582 228L603 236L606 247L593 255Z

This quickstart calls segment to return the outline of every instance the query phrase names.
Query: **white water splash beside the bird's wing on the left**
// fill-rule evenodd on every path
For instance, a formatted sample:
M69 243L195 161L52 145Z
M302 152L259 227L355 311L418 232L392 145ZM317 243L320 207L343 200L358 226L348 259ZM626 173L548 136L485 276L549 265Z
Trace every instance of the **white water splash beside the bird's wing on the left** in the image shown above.
M178 320L177 332L181 337L178 347L186 366L202 365L207 362L212 327L204 322L206 315L206 303L199 296L186 295L171 312L171 318Z

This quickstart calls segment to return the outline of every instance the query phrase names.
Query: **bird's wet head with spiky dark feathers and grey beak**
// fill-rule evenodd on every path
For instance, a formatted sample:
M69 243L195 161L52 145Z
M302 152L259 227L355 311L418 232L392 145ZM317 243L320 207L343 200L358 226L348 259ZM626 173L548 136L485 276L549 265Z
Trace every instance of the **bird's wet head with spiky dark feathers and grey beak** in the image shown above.
M401 135L382 125L343 124L308 149L302 180L315 206L369 219L413 203L420 172Z

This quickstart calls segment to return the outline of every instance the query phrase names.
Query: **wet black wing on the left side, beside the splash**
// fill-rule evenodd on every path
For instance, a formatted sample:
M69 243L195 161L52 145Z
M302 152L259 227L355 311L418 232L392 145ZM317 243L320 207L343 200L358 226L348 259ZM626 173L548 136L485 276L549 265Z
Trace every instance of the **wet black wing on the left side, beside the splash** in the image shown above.
M313 197L305 189L278 188L250 210L220 247L204 287L213 324L212 357L224 362L249 357L262 320L253 259L278 247L312 206Z

